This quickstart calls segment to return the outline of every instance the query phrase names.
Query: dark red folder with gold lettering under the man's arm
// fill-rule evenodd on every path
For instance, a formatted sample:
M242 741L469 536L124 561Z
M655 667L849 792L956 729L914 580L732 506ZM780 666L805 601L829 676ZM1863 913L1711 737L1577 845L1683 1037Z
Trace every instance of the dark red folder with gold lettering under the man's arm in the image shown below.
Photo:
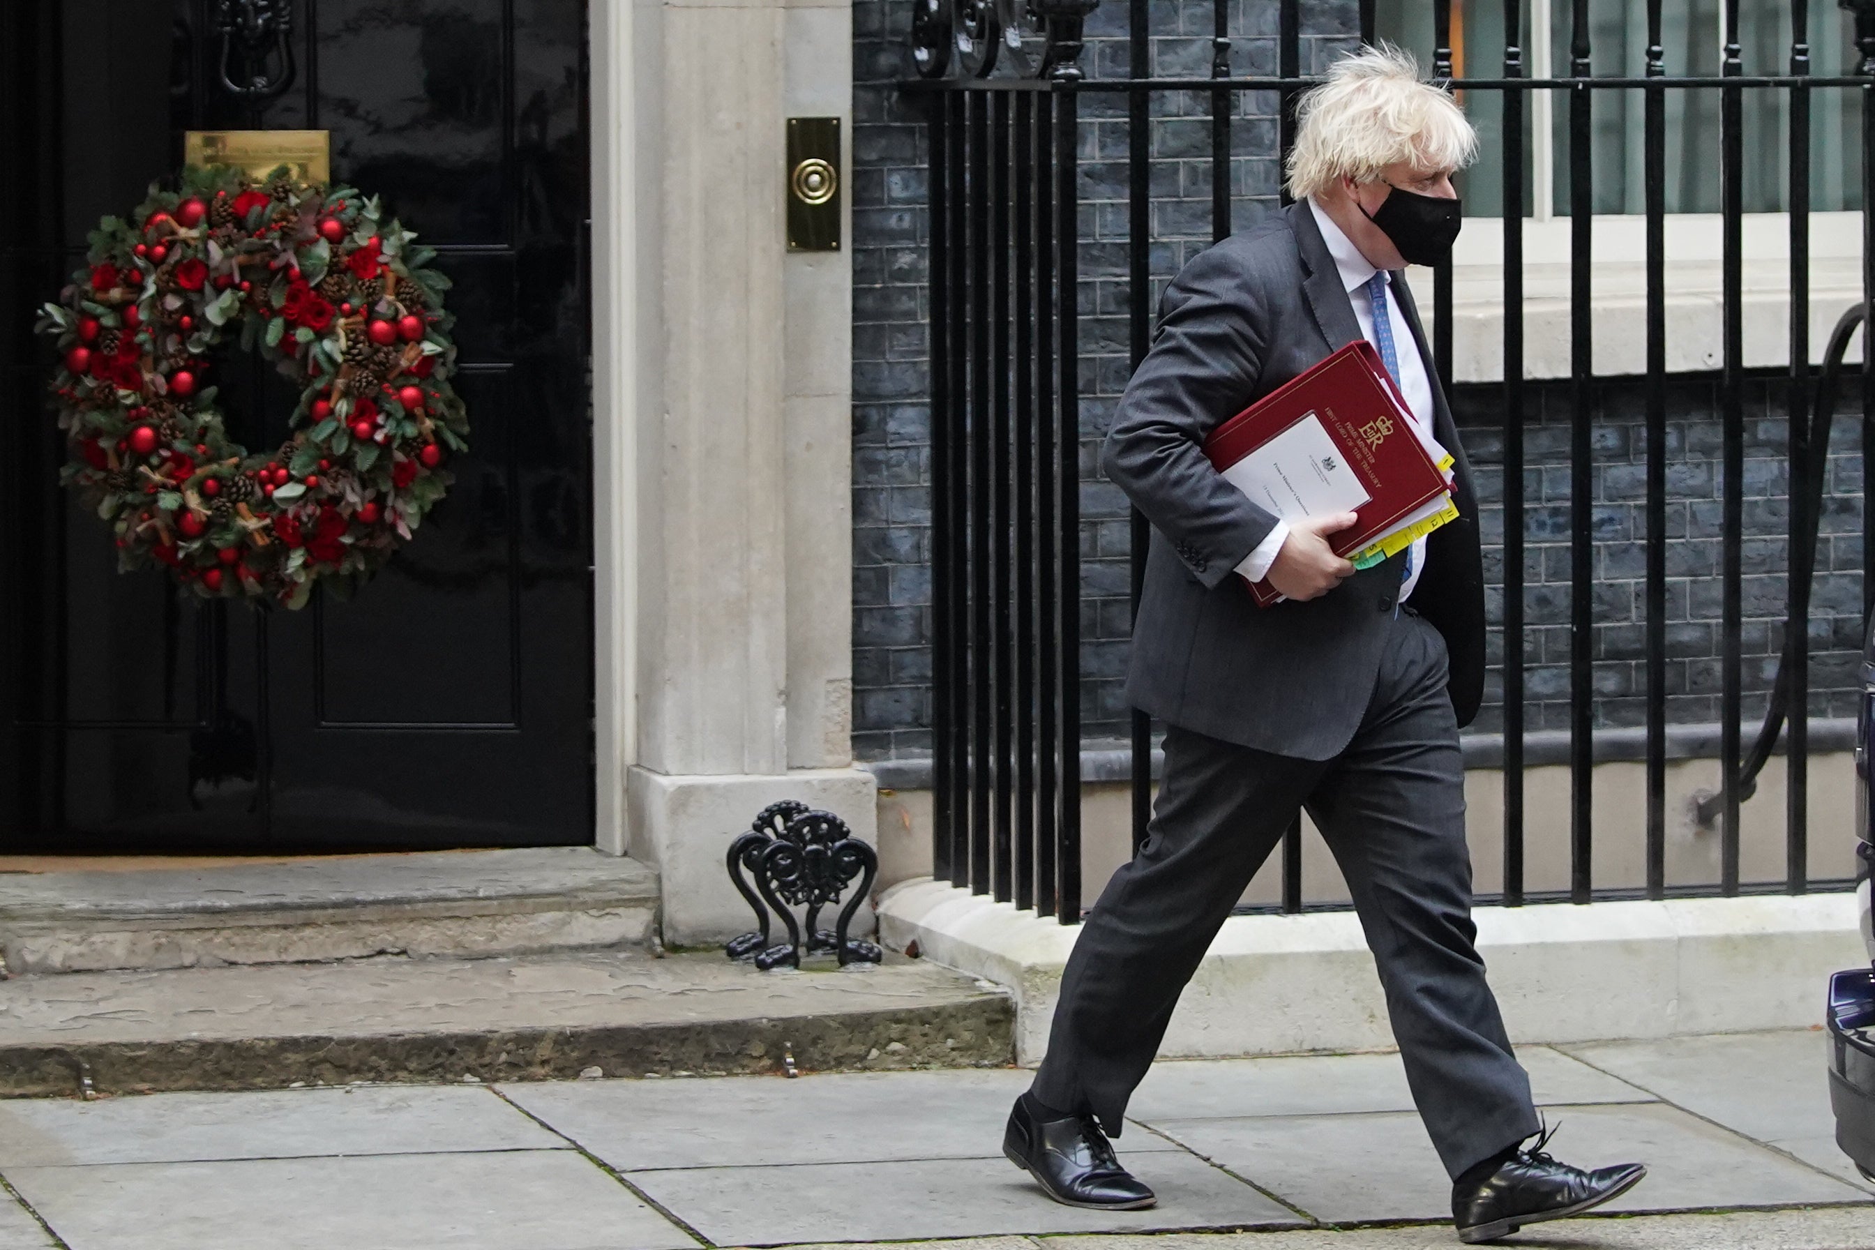
M1204 454L1288 521L1352 510L1356 523L1329 538L1346 557L1451 489L1412 420L1380 352L1356 339L1211 431ZM1251 594L1258 607L1281 598L1268 581Z

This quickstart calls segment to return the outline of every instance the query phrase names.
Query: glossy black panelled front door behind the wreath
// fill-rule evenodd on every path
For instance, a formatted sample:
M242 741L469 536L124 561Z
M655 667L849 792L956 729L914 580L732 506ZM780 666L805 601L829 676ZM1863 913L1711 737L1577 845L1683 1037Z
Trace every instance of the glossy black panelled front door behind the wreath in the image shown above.
M285 13L285 90L218 19ZM583 0L0 4L0 855L592 838ZM223 75L227 64L229 73ZM472 450L356 598L298 613L118 573L60 487L32 311L188 129L326 129L454 279ZM257 362L232 433L285 435Z

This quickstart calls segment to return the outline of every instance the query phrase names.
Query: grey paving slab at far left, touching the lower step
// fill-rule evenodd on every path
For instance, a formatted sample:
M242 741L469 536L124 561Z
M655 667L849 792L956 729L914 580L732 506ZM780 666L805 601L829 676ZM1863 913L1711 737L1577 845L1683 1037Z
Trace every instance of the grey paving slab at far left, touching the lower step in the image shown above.
M472 1085L0 1102L0 1169L542 1149L568 1147Z

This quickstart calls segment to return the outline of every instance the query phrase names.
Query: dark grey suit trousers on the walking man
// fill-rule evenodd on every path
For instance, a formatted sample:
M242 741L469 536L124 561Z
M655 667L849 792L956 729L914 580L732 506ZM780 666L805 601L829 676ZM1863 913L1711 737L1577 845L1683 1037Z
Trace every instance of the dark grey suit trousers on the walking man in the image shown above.
M1166 729L1138 855L1108 881L1069 956L1035 1096L1119 1136L1185 982L1298 808L1328 840L1386 990L1414 1104L1457 1177L1538 1132L1472 943L1464 768L1446 643L1410 611L1335 759L1271 755Z

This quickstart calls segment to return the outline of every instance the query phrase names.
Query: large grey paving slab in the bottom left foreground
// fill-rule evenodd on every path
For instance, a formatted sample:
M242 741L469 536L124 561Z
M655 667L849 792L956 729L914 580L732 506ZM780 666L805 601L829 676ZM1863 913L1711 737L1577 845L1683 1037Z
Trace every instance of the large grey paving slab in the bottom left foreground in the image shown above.
M71 1250L686 1250L572 1151L8 1168Z

